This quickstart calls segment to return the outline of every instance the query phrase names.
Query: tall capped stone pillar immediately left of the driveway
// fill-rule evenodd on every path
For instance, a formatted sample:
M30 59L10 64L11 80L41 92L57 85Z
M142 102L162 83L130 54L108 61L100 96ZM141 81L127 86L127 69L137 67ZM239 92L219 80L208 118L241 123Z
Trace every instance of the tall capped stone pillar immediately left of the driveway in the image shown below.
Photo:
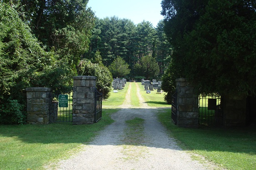
M97 78L75 76L73 79L73 124L93 124Z

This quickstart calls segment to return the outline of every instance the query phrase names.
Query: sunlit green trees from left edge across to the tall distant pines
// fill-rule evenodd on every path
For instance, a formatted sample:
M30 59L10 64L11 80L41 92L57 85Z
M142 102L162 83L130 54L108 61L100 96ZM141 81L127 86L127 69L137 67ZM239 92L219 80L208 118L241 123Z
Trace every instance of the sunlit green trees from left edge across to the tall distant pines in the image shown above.
M131 70L122 75L127 79L161 78L171 55L163 21L154 28L149 21L98 19L87 2L0 0L1 124L25 124L26 87L64 94L72 90L72 76L94 75L107 98L108 67L117 58Z

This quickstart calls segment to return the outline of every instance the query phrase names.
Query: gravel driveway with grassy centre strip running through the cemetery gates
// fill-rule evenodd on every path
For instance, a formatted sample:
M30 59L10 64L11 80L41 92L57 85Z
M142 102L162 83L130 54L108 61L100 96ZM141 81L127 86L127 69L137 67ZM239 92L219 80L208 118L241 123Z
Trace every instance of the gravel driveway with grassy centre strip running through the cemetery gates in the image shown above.
M204 161L204 165L200 164L192 160L189 153L182 151L158 121L156 113L160 108L148 107L139 93L140 107L131 108L130 89L131 86L128 87L122 109L112 114L115 122L101 131L89 145L85 145L83 151L68 160L60 161L57 170L219 169L207 161ZM125 145L122 140L127 128L125 121L135 117L144 119L142 146Z

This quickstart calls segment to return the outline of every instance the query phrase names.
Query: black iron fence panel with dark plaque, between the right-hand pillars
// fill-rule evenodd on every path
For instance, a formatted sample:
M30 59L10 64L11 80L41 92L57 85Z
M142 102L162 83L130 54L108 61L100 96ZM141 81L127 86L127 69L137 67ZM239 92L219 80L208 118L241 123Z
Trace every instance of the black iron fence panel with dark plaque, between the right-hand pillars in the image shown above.
M199 95L199 125L221 126L222 124L223 110L220 95Z

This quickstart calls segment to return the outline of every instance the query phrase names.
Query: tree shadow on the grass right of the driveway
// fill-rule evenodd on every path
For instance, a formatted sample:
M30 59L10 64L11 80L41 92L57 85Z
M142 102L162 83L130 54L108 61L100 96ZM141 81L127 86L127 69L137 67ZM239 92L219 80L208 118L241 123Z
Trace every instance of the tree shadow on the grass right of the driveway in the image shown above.
M158 114L159 120L171 136L180 141L188 150L220 151L256 155L256 126L241 128L221 128L199 126L197 129L174 125L170 111Z

